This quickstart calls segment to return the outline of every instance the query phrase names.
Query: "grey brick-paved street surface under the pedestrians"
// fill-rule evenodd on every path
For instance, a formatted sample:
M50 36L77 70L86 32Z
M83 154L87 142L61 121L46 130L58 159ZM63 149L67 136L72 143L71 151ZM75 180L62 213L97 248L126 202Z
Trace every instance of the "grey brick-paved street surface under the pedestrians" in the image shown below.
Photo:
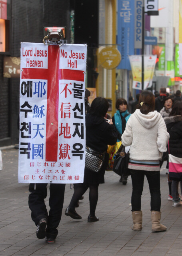
M145 178L142 195L143 229L133 231L131 215L132 184L119 182L114 172L106 172L99 186L96 208L98 222L88 223L88 192L76 208L81 220L65 216L73 191L66 185L62 220L54 244L36 238L36 226L28 208L28 184L18 184L18 150L2 150L0 171L0 255L16 256L171 256L182 255L182 207L168 201L166 169L161 170L161 222L167 232L152 233L150 192ZM48 205L48 198L46 199Z

